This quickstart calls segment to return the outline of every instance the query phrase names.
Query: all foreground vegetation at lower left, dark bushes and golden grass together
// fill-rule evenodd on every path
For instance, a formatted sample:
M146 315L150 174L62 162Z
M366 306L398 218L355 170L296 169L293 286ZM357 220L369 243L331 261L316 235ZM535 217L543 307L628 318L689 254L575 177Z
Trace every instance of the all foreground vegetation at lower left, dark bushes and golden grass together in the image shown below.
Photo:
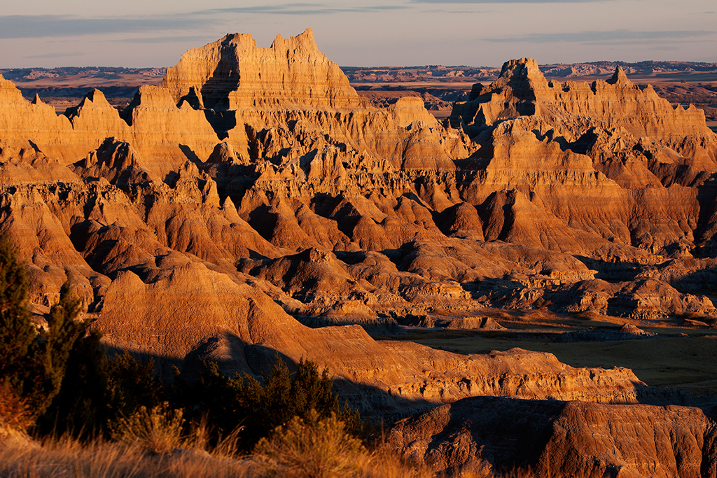
M260 380L205 363L199 383L169 386L151 360L108 358L79 311L65 285L47 329L34 325L24 267L0 243L1 477L432 476L370 451L310 360L291 373L277 356Z

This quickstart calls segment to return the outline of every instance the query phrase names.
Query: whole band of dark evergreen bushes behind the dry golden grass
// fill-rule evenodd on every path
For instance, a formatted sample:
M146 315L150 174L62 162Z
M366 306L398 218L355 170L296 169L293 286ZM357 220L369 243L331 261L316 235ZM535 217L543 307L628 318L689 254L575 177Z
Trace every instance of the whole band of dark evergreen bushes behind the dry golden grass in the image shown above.
M339 406L328 370L320 372L310 360L300 360L290 373L277 355L260 380L227 377L217 363L206 363L199 383L186 386L179 377L166 390L152 360L141 364L128 353L106 357L100 334L77 320L80 301L67 284L47 316L47 330L31 320L27 289L23 265L9 243L0 242L0 424L9 424L3 426L35 424L41 434L108 437L118 426L137 428L169 413L160 407L169 401L191 420L158 425L179 426L186 434L187 426L205 420L214 429L212 444L239 436L246 450L295 416L336 416L352 434L362 430L359 414Z

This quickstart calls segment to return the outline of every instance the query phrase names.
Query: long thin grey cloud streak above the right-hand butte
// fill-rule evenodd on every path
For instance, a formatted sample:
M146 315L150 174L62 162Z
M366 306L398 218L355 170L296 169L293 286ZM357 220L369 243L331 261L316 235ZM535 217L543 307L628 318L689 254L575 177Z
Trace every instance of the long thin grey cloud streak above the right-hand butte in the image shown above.
M581 43L581 44L642 44L655 41L674 41L706 37L715 34L707 30L678 30L664 32L635 32L632 30L612 30L611 32L575 32L575 33L536 33L521 37L484 38L493 43Z

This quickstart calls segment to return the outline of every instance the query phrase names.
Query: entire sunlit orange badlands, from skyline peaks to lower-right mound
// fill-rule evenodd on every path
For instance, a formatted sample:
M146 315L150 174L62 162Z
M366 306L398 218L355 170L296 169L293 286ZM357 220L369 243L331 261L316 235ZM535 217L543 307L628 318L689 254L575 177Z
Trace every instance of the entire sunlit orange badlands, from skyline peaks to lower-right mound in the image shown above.
M716 472L713 418L629 369L371 336L500 327L487 307L717 314L717 136L619 67L561 84L512 60L442 124L359 97L310 30L228 34L121 112L94 90L58 116L0 77L0 150L37 316L69 280L162 373L310 358L365 413L422 411L393 443L453 474Z

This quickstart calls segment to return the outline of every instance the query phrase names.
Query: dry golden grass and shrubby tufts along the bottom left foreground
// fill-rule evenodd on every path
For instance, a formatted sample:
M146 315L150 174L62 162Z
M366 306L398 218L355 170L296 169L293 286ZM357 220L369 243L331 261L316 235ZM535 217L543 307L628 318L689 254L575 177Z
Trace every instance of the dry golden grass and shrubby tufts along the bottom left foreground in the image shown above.
M163 415L163 416L162 416ZM130 417L123 441L72 439L33 441L13 432L0 434L2 478L429 478L427 467L408 465L388 446L369 451L346 434L336 417L309 424L294 419L257 446L252 457L238 457L239 432L211 453L201 432L182 436L181 415L155 408ZM201 427L200 427L201 428ZM162 430L164 429L164 430ZM181 444L182 448L175 445ZM172 446L175 446L172 448Z

